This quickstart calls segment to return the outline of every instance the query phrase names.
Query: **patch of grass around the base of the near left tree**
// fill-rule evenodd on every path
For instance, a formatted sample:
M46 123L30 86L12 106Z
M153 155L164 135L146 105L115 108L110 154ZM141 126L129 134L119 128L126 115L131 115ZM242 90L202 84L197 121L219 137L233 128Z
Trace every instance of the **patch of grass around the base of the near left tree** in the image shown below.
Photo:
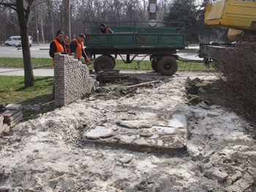
M24 87L24 77L0 76L0 103L31 105L42 104L39 112L23 110L23 118L28 120L31 115L48 112L54 109L53 77L34 77L34 86Z

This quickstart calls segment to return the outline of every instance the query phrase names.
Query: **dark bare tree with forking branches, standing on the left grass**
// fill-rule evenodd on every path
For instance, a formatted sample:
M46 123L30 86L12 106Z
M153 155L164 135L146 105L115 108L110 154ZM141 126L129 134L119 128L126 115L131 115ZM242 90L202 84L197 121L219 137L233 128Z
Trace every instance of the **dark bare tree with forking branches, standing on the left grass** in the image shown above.
M34 0L16 0L16 1L8 1L1 0L0 4L5 7L10 7L15 10L18 15L18 23L20 26L20 37L21 37L21 45L22 45L22 53L23 53L23 66L24 66L24 84L25 87L31 87L34 85L34 74L31 63L31 53L29 47L29 31L28 31L28 21L29 14L31 12L32 4ZM24 7L26 6L26 8Z

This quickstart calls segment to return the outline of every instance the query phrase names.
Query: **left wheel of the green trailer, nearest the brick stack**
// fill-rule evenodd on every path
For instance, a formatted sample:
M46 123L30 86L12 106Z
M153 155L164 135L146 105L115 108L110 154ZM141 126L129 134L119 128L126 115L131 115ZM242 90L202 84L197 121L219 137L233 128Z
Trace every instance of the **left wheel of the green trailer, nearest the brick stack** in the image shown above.
M94 70L95 72L104 71L106 69L114 69L115 64L113 59L110 58L108 55L101 55L94 61Z

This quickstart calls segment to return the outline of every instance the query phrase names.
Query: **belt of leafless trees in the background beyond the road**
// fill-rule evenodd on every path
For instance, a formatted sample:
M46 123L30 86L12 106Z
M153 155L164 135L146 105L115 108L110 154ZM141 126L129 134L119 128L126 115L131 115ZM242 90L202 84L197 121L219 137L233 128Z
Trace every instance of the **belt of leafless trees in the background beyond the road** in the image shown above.
M16 4L18 0L0 0ZM33 1L36 12L32 11L28 21L29 35L39 41L50 42L59 29L69 38L84 32L84 21L121 22L127 20L148 20L148 0L23 0ZM197 0L197 3L203 0ZM210 0L209 0L210 1ZM213 1L213 0L211 0ZM173 0L157 0L157 21L162 21ZM18 15L9 7L0 6L0 40L20 32ZM24 11L25 12L25 11ZM38 27L36 26L38 25ZM69 28L70 25L70 28Z

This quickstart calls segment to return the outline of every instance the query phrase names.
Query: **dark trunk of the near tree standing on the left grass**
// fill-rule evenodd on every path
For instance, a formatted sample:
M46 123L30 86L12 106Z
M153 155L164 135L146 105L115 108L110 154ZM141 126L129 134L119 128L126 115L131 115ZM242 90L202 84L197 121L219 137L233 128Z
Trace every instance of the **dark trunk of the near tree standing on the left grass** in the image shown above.
M21 45L22 45L22 53L23 53L24 82L25 82L25 87L31 87L31 86L34 86L34 74L32 69L31 53L30 53L30 47L29 47L29 32L28 32L29 11L24 9L23 0L17 0L16 4L17 4L18 21L20 25L20 37L21 37Z

